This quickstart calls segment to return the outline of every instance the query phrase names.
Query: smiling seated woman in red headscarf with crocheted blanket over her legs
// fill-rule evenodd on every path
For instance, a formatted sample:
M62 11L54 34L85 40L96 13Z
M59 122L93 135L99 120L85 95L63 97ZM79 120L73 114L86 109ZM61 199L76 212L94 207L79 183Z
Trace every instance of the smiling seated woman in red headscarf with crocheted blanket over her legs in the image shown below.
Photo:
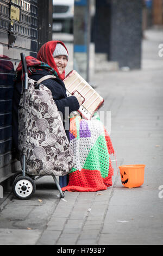
M68 96L65 84L65 68L68 62L68 51L61 41L48 41L37 54L37 58L26 57L28 76L35 81L46 75L54 75L42 82L52 92L58 110L64 117L64 124L70 121L70 131L66 131L71 148L74 152L74 168L71 173L60 177L62 190L98 191L106 190L112 185L113 169L109 154L114 153L110 137L98 117L87 121L80 115L72 115L82 105L80 96ZM21 63L18 65L17 82L13 97L13 140L18 151L18 105L21 97ZM65 117L65 107L69 116ZM66 108L67 109L67 108Z

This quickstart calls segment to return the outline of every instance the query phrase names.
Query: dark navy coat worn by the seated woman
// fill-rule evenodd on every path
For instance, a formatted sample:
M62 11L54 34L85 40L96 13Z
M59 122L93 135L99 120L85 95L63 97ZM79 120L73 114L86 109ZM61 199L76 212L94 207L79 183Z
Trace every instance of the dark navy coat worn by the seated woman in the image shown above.
M33 80L37 81L41 77L49 75L49 72L47 70L37 70L33 75L30 76ZM53 99L58 107L58 110L62 113L62 120L63 124L65 127L66 135L68 140L70 141L69 137L69 115L72 111L76 111L79 109L79 102L75 96L70 96L67 97L66 94L66 88L64 82L60 80L59 78L53 79L48 79L42 82L47 88L49 88L52 92ZM20 103L20 97L21 97L21 88L22 88L22 83L18 82L15 84L14 87L14 95L13 95L13 121L12 121L12 126L13 126L13 143L14 143L14 148L16 151L18 151L18 105ZM65 112L65 107L68 107L69 109L66 110ZM67 125L68 124L68 125Z

